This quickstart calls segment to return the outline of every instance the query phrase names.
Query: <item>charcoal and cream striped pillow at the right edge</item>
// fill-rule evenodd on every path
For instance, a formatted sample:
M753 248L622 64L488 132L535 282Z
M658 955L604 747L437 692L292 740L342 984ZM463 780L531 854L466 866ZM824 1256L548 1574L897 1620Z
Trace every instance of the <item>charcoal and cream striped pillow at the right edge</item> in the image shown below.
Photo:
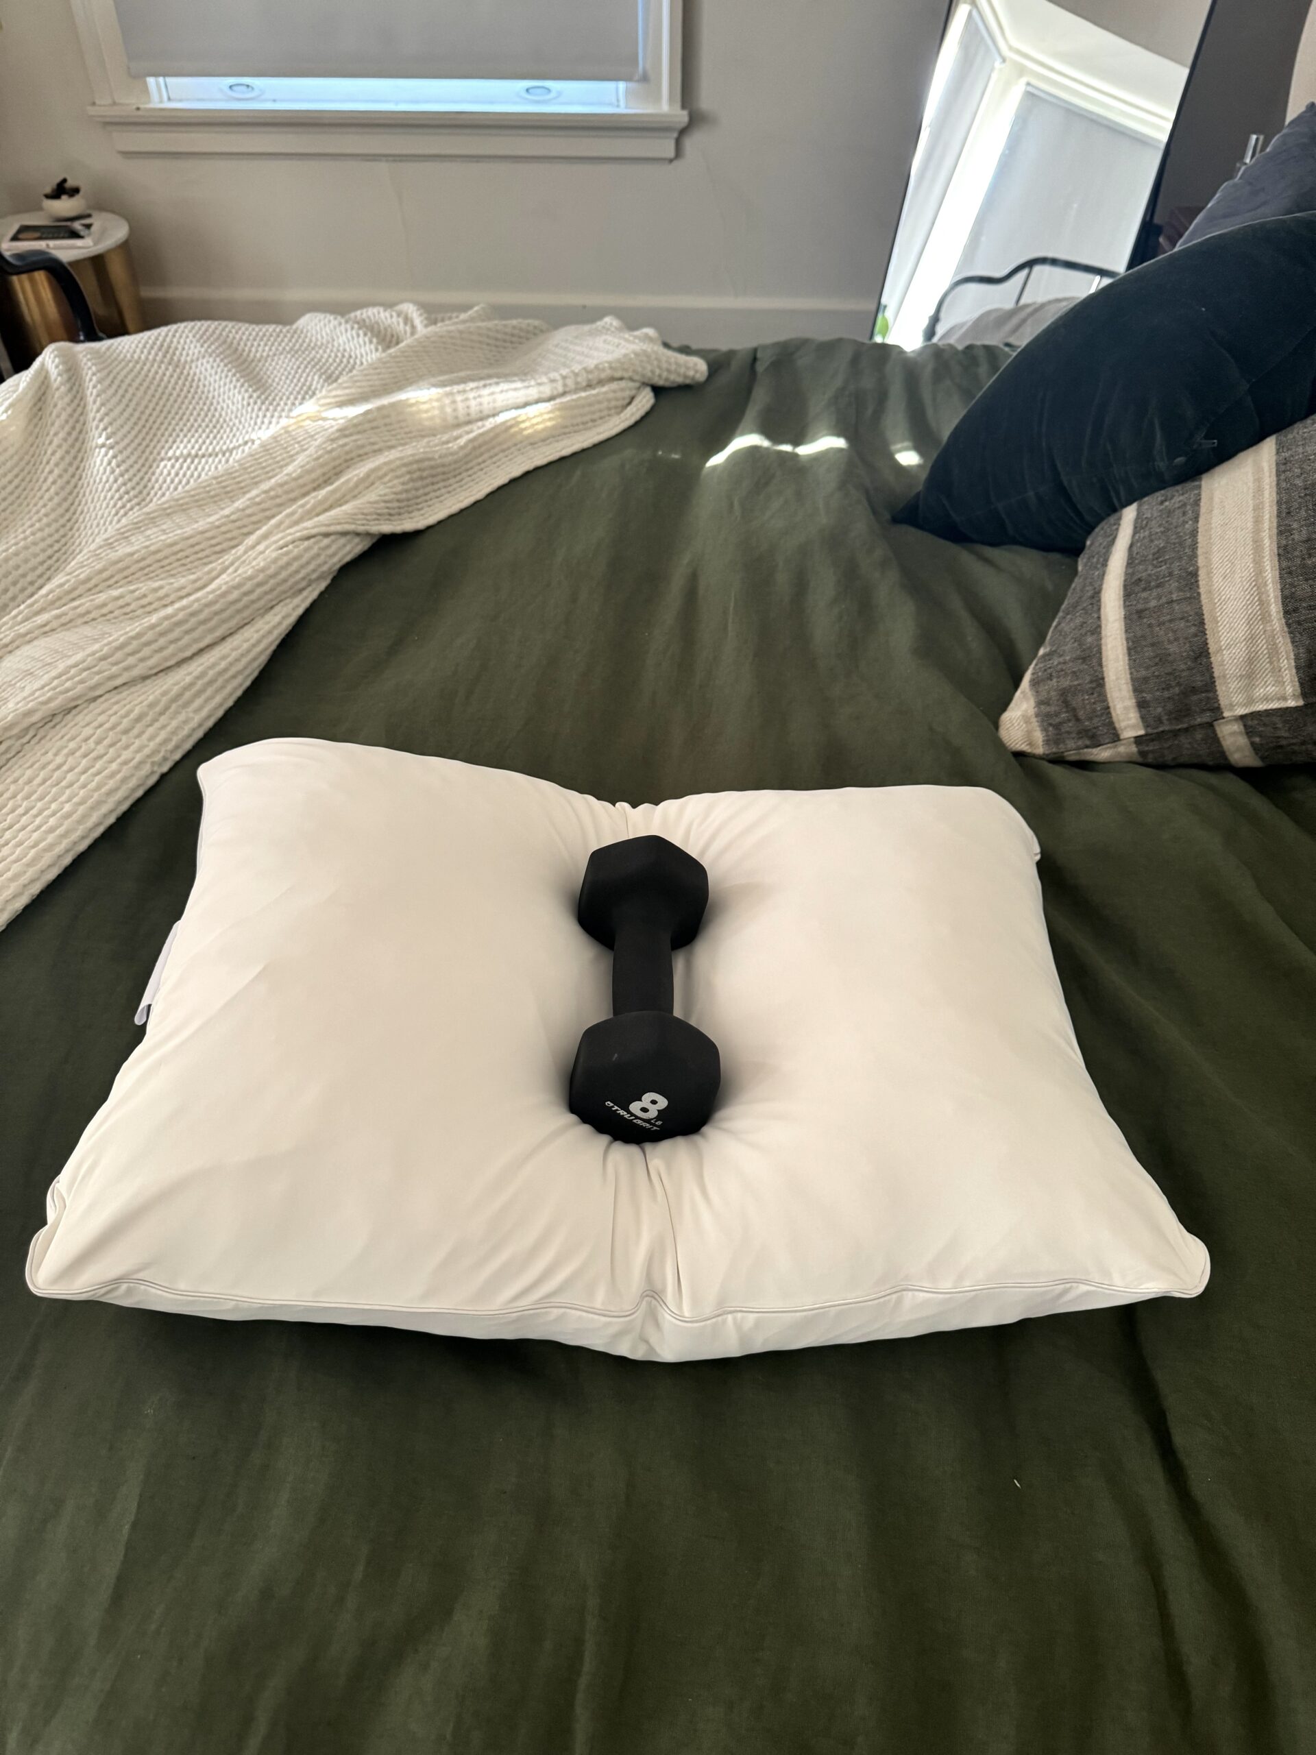
M1316 416L1093 530L1000 735L1062 762L1316 762Z

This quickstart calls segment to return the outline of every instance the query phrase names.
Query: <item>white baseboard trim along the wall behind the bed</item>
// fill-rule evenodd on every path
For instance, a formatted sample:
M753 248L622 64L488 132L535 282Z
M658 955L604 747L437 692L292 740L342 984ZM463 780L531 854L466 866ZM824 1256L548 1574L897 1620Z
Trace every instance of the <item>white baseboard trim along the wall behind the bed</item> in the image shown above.
M632 328L653 326L670 342L691 347L746 347L790 335L848 335L867 340L874 300L848 298L735 298L679 293L660 297L609 293L435 293L397 288L297 288L291 291L200 286L144 286L151 323L218 318L232 323L291 323L307 311L360 311L363 305L398 305L414 300L426 311L468 311L491 305L500 316L539 318L544 323L593 323L618 316Z

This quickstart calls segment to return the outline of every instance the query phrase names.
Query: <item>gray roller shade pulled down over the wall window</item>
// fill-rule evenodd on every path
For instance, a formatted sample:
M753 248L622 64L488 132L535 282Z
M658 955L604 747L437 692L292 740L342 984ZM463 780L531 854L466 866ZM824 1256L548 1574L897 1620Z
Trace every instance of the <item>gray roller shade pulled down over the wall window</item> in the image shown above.
M640 0L116 0L116 11L139 77L642 77Z

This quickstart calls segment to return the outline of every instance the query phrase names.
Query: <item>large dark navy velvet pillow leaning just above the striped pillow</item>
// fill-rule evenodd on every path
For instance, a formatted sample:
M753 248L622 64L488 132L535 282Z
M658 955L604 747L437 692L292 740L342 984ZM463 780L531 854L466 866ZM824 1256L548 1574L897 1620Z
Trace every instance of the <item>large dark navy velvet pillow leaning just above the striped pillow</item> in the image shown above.
M1258 219L1079 300L988 384L897 523L1077 555L1111 512L1316 412L1316 214Z

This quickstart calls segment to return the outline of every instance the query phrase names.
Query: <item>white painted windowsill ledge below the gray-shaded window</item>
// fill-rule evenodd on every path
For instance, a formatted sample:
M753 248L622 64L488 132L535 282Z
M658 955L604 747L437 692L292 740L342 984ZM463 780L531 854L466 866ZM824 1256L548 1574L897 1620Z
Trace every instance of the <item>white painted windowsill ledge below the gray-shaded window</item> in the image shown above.
M93 104L119 153L261 158L676 158L688 111Z

